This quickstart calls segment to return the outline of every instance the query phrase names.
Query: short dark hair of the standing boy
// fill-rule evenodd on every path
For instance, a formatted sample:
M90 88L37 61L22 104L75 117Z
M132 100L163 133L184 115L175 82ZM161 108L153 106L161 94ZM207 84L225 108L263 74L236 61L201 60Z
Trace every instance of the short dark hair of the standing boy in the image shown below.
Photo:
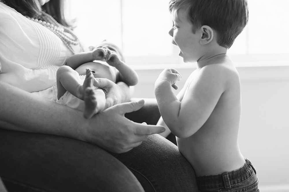
M171 0L170 12L182 9L188 13L193 33L203 25L217 32L217 43L229 49L248 22L247 0Z

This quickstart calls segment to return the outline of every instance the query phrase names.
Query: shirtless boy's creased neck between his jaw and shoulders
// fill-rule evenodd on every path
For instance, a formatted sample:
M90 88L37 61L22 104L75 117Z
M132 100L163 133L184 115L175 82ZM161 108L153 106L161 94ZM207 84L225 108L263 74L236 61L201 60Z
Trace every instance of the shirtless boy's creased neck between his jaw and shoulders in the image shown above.
M216 64L219 63L221 60L227 57L227 49L221 49L217 52L211 52L204 54L199 60L197 61L197 68L202 68L209 64Z

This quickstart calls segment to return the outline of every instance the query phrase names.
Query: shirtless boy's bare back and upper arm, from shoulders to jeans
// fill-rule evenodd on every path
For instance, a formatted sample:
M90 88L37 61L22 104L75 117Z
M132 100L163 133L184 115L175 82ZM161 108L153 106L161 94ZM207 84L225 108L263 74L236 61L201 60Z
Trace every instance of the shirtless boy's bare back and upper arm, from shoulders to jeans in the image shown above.
M177 144L196 175L240 168L244 164L238 146L240 80L230 59L224 54L204 63L187 79L182 94L179 117L191 135L177 138Z

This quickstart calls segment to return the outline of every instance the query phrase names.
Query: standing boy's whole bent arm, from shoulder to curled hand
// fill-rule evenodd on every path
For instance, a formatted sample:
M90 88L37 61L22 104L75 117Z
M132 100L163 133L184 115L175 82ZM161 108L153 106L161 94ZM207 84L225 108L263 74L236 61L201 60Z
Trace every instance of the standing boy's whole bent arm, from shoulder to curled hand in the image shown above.
M169 73L162 72L155 83L155 96L164 122L179 138L186 138L197 132L214 110L225 90L224 78L216 66L200 69L188 85L184 98L179 101L168 80Z

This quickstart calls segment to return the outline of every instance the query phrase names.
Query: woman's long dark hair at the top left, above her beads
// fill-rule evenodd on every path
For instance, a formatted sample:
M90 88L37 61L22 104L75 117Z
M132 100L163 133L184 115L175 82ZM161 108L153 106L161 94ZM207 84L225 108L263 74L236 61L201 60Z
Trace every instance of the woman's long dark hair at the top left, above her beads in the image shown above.
M37 18L43 10L60 24L71 26L64 18L64 0L50 0L42 7L38 0L6 0L6 3L24 16Z

